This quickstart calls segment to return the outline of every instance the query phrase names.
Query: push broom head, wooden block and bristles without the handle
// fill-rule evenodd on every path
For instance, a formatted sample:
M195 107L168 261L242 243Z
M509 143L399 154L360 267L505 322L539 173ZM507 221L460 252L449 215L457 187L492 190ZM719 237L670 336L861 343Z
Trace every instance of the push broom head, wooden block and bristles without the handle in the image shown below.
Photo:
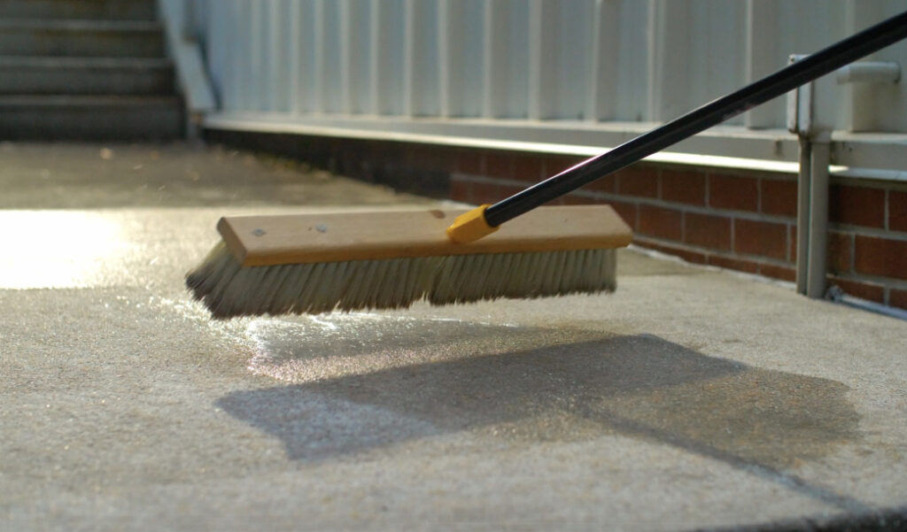
M608 206L542 207L457 243L462 210L221 218L186 277L219 318L612 291L629 227Z

